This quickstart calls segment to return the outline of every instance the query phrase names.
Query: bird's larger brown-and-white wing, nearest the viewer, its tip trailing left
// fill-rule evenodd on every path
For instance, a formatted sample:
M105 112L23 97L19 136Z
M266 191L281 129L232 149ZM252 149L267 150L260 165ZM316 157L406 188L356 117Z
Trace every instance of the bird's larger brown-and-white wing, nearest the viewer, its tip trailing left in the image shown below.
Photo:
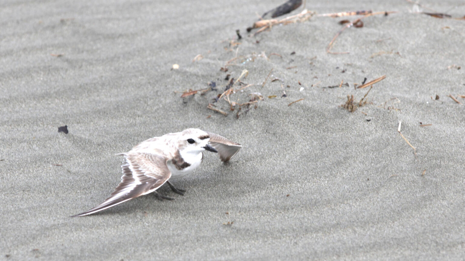
M111 208L158 189L170 177L166 158L151 153L126 153L126 163L121 165L123 176L113 193L95 208L75 216L90 215Z

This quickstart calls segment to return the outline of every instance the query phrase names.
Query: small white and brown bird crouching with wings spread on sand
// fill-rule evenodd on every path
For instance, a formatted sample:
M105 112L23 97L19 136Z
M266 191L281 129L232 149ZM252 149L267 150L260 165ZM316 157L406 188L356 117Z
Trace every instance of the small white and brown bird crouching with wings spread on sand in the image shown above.
M204 151L218 153L221 161L227 162L241 148L241 144L218 134L194 128L147 139L128 152L116 154L124 156L123 176L113 193L94 208L71 217L91 215L149 193L155 193L160 200L172 200L155 190L167 183L174 192L184 195L186 190L168 180L186 176L199 167Z

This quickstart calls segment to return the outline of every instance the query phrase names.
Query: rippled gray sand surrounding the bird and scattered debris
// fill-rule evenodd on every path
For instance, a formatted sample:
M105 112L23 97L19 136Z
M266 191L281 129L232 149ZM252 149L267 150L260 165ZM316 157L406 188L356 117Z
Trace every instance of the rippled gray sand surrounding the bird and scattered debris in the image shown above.
M332 50L350 53L331 55L325 48L338 21L354 17L312 18L247 37L255 13L282 0L0 3L0 257L465 259L465 99L447 97L465 95L465 21L409 13L406 1L313 2L307 8L318 13L400 13L345 30ZM460 1L435 2L422 1L465 13ZM236 29L241 58L221 72L235 56L228 43ZM192 62L198 54L204 58ZM226 74L237 78L244 69L242 81L255 85L230 97L242 103L260 92L258 108L239 119L224 100L217 104L227 117L207 110ZM353 83L382 75L369 104L353 113L339 106L368 90ZM341 80L350 87L324 88ZM174 92L210 81L218 91ZM399 121L416 155L397 132ZM69 134L58 133L65 124ZM174 201L146 195L69 217L113 191L122 160L115 153L188 127L244 148L229 164L206 154L198 170L174 182L185 196L162 187Z

